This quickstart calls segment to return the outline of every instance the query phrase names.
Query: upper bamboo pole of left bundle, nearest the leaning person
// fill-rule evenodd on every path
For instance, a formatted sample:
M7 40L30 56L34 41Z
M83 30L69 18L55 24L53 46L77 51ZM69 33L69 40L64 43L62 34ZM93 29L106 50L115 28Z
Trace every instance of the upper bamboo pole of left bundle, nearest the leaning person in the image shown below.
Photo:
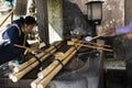
M58 42L55 44L55 46L58 46L62 44L62 42ZM40 53L38 55L36 55L38 58L41 58L42 56L46 55L47 53L50 54L51 51L56 51L57 48L55 48L55 46L51 46L50 48L47 48L44 52ZM25 67L30 66L31 64L33 64L34 62L36 61L35 57L32 57L31 59L29 59L28 62L23 63L22 65L18 66L18 67L14 67L13 72L14 73L19 73L20 70L24 69Z

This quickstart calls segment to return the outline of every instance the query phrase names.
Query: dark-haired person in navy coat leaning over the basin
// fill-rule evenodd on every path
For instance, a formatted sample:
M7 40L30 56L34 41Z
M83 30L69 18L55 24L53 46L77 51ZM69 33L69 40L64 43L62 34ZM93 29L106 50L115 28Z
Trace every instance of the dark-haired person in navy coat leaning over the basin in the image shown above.
M16 26L7 29L6 32L10 43L0 48L0 65L11 59L18 59L25 52L24 48L16 47L14 44L30 47L30 44L26 42L28 33L35 26L36 21L33 16L28 15L25 19L20 18L13 21L12 24L16 24L20 29L18 30Z

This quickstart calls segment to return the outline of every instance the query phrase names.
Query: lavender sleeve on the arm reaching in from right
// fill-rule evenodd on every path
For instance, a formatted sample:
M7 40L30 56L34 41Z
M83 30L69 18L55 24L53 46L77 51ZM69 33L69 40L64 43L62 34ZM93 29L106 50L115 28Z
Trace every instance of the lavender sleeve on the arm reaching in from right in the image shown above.
M116 34L118 35L127 33L132 33L132 21L127 26L116 29Z

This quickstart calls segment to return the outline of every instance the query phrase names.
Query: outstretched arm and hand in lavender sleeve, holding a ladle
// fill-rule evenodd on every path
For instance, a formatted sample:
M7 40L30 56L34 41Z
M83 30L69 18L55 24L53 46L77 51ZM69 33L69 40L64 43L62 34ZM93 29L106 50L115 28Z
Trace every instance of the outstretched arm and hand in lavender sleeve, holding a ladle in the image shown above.
M132 40L132 21L125 26L108 30L107 35L111 35L111 34L123 35L125 38Z

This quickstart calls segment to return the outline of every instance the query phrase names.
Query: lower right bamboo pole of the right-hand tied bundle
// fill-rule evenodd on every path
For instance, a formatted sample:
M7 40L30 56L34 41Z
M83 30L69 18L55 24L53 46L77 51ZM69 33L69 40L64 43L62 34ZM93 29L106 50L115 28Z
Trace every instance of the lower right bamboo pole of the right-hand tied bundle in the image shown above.
M79 50L81 46L78 46L77 50ZM68 61L76 54L77 51L74 51L63 62L64 65L68 63ZM54 76L57 75L57 73L63 68L63 66L59 64L48 76L46 76L38 85L37 88L45 88L50 81L54 78Z

